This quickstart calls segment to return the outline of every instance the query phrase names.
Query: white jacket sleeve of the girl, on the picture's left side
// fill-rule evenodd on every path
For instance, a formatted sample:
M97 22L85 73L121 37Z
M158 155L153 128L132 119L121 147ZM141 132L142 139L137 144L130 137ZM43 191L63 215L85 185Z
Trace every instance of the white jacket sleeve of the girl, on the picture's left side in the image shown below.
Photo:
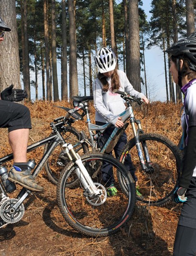
M113 115L103 103L103 89L98 79L95 80L93 85L93 98L94 98L94 107L95 110L101 115L106 122L112 123L115 125L118 120L118 116Z

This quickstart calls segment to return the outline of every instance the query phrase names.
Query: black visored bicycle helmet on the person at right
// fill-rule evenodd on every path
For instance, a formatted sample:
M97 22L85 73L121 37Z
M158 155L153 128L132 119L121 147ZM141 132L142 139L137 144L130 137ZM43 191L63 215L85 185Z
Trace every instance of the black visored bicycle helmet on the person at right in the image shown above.
M179 57L179 59L180 57L187 57L190 61L190 69L196 71L196 31L190 37L178 40L165 51L174 57Z

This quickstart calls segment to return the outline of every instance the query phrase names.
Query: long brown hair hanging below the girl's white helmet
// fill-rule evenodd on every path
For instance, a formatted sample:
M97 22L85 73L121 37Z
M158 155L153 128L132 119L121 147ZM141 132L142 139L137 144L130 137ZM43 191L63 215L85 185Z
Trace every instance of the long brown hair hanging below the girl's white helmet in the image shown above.
M103 85L103 91L107 92L109 90L109 83L107 81L107 77L103 75L103 73L98 73L98 79ZM117 67L115 67L113 74L111 75L111 88L110 90L118 90L120 88L120 79L117 73Z

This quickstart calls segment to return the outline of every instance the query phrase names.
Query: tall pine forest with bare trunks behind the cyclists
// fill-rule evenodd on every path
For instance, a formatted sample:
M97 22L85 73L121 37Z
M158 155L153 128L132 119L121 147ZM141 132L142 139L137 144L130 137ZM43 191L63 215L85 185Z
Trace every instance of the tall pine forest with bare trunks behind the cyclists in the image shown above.
M0 46L0 68L7 73L0 88L24 86L29 100L32 87L35 100L92 95L95 53L108 47L134 88L151 99L145 51L156 46L164 60L167 102L178 102L181 92L164 50L195 31L196 1L149 0L149 21L142 5L142 0L0 0L1 18L12 28ZM3 47L13 48L14 62Z

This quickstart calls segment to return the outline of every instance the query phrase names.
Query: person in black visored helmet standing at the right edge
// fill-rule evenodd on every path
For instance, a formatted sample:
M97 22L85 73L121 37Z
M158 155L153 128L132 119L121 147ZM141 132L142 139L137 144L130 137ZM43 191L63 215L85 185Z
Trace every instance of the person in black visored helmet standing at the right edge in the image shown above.
M174 201L183 203L174 241L174 256L196 255L196 32L166 50L170 73L181 87L184 112L184 158Z

